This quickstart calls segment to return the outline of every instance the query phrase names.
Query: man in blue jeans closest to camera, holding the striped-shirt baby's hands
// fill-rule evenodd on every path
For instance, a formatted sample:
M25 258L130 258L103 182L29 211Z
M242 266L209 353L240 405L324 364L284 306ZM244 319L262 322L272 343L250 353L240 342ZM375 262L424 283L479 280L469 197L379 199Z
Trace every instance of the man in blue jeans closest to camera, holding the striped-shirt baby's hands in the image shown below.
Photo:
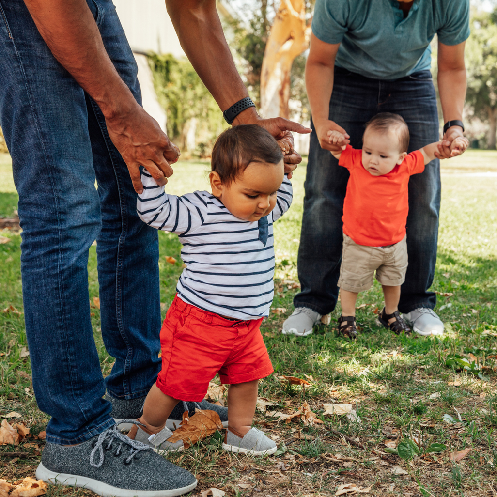
M247 97L215 1L168 7L221 108ZM121 435L112 419L136 419L160 369L157 231L139 220L135 191L143 191L139 166L165 184L178 150L140 106L137 67L111 0L0 0L0 18L0 119L19 193L33 388L52 416L37 475L99 495L188 492L193 475ZM300 162L287 130L306 128L261 120L253 107L233 113L234 124L266 127L287 160ZM116 358L105 383L88 305L95 239L102 336Z

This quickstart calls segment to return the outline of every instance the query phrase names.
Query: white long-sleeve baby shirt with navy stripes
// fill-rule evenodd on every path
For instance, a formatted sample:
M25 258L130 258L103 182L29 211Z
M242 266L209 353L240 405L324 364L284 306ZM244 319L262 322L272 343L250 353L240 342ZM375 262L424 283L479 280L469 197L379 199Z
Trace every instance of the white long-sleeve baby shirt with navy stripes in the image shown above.
M177 233L183 244L186 267L176 286L178 297L234 319L267 316L274 293L272 225L292 202L292 184L286 175L276 206L267 215L265 246L259 241L258 222L235 217L212 193L169 195L145 170L142 182L138 215L154 228Z

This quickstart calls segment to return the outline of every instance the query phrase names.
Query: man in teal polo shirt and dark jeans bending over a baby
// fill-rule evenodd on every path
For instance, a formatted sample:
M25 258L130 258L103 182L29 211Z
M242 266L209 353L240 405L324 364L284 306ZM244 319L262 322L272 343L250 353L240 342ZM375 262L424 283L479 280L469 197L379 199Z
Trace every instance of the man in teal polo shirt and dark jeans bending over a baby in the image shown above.
M305 336L336 304L341 216L348 172L329 150L327 133L348 133L361 148L364 123L378 112L400 114L409 126L409 152L438 140L438 114L429 43L438 34L438 89L444 117L439 157L455 152L462 136L466 95L464 43L469 0L317 0L306 85L313 133L299 246L302 291L283 333ZM440 208L438 159L409 181L409 266L399 309L421 335L443 333L433 312L433 281Z

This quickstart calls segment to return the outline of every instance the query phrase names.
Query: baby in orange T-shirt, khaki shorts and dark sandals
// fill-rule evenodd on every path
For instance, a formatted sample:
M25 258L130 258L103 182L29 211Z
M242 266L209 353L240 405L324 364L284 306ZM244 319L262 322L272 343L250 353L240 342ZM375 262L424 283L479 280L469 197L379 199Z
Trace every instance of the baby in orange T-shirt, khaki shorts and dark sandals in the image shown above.
M341 146L345 136L330 131L329 140ZM466 138L456 140L461 146L467 142ZM390 112L377 114L366 124L362 142L362 150L343 145L331 152L338 165L350 173L343 202L338 279L342 306L338 331L349 338L357 336L357 294L371 287L375 271L385 297L385 307L378 315L380 323L397 334L411 331L398 309L408 266L408 183L409 177L423 172L438 152L435 142L408 154L408 126L400 115Z

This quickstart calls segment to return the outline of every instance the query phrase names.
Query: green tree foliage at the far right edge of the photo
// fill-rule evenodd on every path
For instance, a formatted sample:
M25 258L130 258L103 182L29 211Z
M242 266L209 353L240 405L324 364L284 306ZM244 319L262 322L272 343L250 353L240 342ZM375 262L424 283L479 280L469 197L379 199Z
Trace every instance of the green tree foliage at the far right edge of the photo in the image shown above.
M468 90L466 103L476 117L490 121L489 148L496 147L497 118L497 8L474 12L466 44Z

